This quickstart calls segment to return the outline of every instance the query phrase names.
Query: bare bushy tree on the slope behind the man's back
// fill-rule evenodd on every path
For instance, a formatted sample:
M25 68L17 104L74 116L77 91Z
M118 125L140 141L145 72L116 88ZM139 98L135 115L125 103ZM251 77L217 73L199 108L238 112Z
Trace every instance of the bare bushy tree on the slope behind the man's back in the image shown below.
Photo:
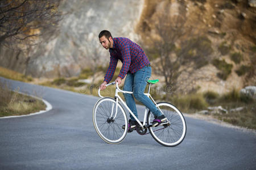
M208 63L207 57L212 53L207 37L194 35L192 28L186 24L184 1L180 1L179 14L171 15L170 6L165 6L156 16L155 33L158 39L149 53L158 56L154 70L163 75L167 86L172 91L177 89L177 79L184 73L193 74Z

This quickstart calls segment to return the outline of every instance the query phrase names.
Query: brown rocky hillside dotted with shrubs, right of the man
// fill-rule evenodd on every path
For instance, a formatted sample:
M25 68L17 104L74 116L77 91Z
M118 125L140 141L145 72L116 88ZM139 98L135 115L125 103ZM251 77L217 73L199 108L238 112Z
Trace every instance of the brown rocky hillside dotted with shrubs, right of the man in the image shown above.
M181 61L174 58L189 60L183 65L187 70L171 66L178 68L176 72L184 70L177 78L177 91L223 93L256 84L255 11L255 1L148 0L144 2L137 32L156 66L164 65L160 62L164 58L159 57L164 53L155 51L164 50L168 43L174 46L167 48L169 66ZM163 41L164 45L159 45ZM193 62L199 65L195 67Z

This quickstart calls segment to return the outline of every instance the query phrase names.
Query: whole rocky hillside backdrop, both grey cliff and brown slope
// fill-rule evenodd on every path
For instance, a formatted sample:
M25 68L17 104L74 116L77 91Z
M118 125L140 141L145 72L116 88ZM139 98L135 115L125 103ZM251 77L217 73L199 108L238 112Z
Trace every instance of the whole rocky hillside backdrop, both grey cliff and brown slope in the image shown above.
M143 46L153 78L177 79L179 92L222 93L256 84L255 6L253 0L65 0L57 35L27 51L1 47L0 66L34 77L79 75L108 64L97 35L109 29ZM164 73L168 79L161 72L163 56L167 68L177 70Z

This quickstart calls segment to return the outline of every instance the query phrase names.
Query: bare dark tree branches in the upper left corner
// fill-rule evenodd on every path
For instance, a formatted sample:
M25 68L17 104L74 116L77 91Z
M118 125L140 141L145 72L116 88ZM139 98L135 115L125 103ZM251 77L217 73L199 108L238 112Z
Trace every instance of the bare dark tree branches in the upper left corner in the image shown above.
M61 0L0 0L0 44L36 44L51 35L61 19Z

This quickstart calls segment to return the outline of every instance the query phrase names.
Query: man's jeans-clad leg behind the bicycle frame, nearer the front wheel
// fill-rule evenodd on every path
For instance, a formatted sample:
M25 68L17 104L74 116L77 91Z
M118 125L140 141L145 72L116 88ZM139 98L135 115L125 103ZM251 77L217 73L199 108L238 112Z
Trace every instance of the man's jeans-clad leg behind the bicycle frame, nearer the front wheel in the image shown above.
M133 91L133 81L134 81L134 74L128 73L125 78L125 85L123 86L124 91ZM136 117L138 117L136 104L134 101L134 97L132 94L123 94L125 96L125 101L131 112L134 113ZM130 114L131 120L135 121L135 118Z

